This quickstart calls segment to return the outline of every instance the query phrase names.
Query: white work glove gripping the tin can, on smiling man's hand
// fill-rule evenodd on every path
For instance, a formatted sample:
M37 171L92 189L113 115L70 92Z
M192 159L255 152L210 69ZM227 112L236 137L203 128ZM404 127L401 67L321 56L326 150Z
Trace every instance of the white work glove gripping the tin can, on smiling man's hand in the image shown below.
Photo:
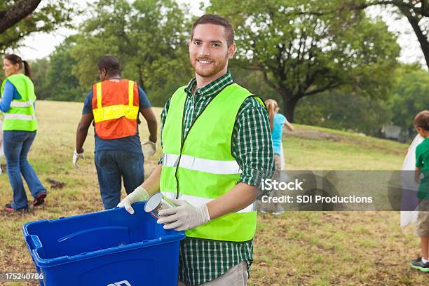
M158 224L164 224L164 229L175 229L176 231L186 231L195 229L197 226L210 222L207 205L194 207L186 200L171 200L177 207L158 212L161 218Z

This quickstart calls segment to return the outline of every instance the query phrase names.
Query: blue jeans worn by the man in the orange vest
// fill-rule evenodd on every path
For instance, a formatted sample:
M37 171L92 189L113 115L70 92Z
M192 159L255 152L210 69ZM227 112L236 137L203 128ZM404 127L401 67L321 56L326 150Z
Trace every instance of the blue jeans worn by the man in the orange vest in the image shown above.
M143 154L127 151L95 151L95 168L104 209L121 201L121 184L132 193L144 181Z

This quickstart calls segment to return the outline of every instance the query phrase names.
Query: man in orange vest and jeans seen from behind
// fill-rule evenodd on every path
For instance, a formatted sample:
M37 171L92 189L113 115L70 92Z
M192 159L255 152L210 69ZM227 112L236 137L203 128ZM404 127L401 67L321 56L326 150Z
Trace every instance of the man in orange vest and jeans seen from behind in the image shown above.
M147 121L149 140L144 142L156 152L156 116L146 93L137 83L121 79L121 67L116 57L98 61L101 82L95 83L83 104L82 118L76 131L73 165L83 157L83 143L88 128L95 126L95 168L104 208L116 207L121 201L121 182L127 194L144 181L144 157L140 143L139 113Z

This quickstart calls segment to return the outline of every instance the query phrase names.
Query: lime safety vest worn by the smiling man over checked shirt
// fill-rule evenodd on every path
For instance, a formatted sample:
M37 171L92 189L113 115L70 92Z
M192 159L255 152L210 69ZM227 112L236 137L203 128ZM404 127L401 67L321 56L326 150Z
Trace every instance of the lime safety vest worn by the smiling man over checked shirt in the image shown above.
M228 193L240 179L242 170L231 154L231 137L238 110L252 93L236 83L226 86L193 121L183 139L184 88L172 95L165 118L160 189L167 198L197 206ZM186 236L247 241L253 238L256 224L256 204L252 203L188 230Z

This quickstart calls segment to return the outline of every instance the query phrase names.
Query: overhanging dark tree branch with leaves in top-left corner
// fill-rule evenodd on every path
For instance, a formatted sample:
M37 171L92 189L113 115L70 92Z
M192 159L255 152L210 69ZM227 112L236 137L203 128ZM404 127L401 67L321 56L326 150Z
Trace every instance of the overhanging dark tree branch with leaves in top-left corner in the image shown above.
M51 32L69 26L73 15L79 13L70 0L0 1L0 51L16 48L20 40L34 32Z

